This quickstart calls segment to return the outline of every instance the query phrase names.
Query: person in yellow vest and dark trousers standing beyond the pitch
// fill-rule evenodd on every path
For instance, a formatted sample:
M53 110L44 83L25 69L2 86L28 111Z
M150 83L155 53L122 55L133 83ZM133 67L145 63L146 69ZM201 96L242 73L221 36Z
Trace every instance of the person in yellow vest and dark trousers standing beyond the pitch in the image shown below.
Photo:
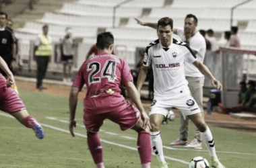
M38 38L34 43L34 54L36 56L37 72L36 72L36 89L46 89L42 85L49 60L52 55L53 46L51 36L48 35L48 25L42 26L42 34L38 34Z

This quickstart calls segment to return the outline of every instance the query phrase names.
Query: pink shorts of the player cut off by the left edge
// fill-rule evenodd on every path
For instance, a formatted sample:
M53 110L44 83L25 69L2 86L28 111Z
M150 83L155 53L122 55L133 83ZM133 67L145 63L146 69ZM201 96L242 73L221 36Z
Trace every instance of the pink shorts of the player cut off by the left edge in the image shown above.
M11 87L0 88L0 110L9 114L26 109L24 103Z

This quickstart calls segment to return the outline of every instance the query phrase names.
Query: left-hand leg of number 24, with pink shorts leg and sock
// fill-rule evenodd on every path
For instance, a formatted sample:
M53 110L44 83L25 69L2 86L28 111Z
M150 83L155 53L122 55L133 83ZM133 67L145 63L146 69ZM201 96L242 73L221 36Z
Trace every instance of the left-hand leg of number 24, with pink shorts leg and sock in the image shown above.
M84 125L87 129L87 144L97 168L104 168L103 147L98 136L98 131L100 130L100 126L102 126L105 117L106 114L84 114Z

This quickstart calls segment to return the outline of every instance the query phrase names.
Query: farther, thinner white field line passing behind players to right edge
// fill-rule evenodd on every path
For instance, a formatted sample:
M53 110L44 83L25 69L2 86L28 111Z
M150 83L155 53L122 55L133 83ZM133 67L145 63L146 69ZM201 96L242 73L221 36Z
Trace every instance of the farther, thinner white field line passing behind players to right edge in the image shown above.
M50 120L57 120L59 122L63 122L65 120L59 120L58 118L55 117L46 117ZM66 121L67 122L67 121ZM114 132L105 132L104 130L100 130L100 132L104 132L106 134L112 134L112 135L117 135L117 136L121 136L119 134L116 134ZM137 138L133 138L131 136L121 136L123 138L129 139L129 140L137 140ZM193 149L185 149L184 147L177 147L177 148L172 148L170 146L163 146L164 149L168 149L168 150L179 150L179 151L187 151L187 150L193 150ZM201 149L194 149L195 151L200 151L200 152L205 152L208 153L207 150L201 150ZM237 155L256 155L256 153L236 153L236 152L229 152L229 151L217 151L217 153L229 153L229 154L237 154Z

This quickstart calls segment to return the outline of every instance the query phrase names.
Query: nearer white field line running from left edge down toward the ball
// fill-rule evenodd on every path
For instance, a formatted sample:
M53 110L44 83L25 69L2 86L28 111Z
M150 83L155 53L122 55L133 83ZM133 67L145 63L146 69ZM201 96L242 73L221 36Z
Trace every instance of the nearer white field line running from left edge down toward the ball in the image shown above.
M10 116L9 114L4 114L4 113L2 113L2 112L0 112L0 115L1 115L1 116L5 116L5 117L9 117L9 118L13 118L13 117ZM15 119L15 118L13 118L13 119ZM41 124L42 126L46 127L46 128L51 128L51 129L53 129L53 130L58 130L58 131L60 131L60 132L65 132L65 133L67 133L67 134L70 134L69 130L65 130L65 129L62 129L62 128L55 127L55 126L51 126L51 125L49 125L49 124L42 124L42 123L40 123L40 124ZM80 137L83 137L83 138L87 138L86 135L84 135L84 134L79 134L79 133L75 133L75 136L80 136ZM110 142L110 141L104 140L104 139L100 139L100 140L101 140L102 142L107 143L107 144L113 144L113 145L119 146L119 147L121 147L121 148L125 148L125 149L130 149L130 150L133 150L133 151L137 151L137 148L134 148L134 147L131 147L131 146L127 146L127 145L124 145L124 144L118 144L118 143L115 143L115 142ZM152 153L152 155L155 155L155 154ZM177 161L177 162L179 162L179 163L184 163L184 164L186 164L186 165L189 165L189 162L183 161L183 160L181 160L181 159L176 159L176 158L166 157L166 156L164 156L164 158L165 158L165 159L168 159L168 160L170 160L170 161Z

